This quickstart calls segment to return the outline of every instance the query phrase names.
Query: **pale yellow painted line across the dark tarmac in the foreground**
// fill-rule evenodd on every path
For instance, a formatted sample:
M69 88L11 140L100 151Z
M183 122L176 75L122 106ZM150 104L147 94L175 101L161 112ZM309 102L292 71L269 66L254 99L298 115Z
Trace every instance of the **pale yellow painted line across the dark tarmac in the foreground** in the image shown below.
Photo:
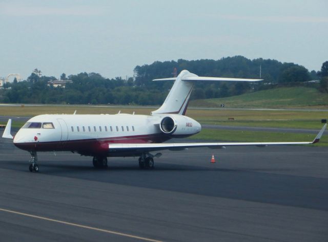
M125 236L125 237L140 239L140 240L144 240L144 241L163 242L162 240L145 238L145 237L140 237L140 236L136 236L136 235L132 235L132 234L126 234L126 233L120 233L120 232L116 232L116 231L112 231L112 230L107 230L107 229L99 229L99 228L95 228L95 227L90 227L90 226L85 226L85 225L79 225L79 224L69 223L69 222L60 221L60 220L56 220L56 219L52 219L52 218L48 218L48 217L41 217L41 216L37 216L37 215L33 215L33 214L22 213L22 212L17 212L17 211L13 211L13 210L3 209L3 208L0 208L0 211L14 213L14 214L19 214L19 215L23 215L23 216L27 216L27 217L33 217L33 218L43 219L43 220L46 220L46 221L51 221L51 222L55 222L55 223L59 223L59 224L65 224L65 225L71 225L71 226L75 226L75 227L79 227L79 228L84 228L84 229L91 229L91 230L105 232L105 233L109 233L109 234L116 234L116 235L120 235L120 236Z

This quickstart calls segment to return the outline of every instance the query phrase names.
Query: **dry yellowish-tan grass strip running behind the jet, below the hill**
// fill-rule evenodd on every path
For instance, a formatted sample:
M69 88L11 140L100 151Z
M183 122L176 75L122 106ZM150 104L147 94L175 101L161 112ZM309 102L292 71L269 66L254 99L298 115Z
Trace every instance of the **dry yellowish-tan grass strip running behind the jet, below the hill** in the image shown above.
M66 106L1 106L2 116L35 116L40 114L117 114L121 113L149 115L150 107L104 107L87 105ZM279 111L279 110L236 110L236 109L188 109L187 116L203 124L227 126L320 128L321 119L327 119L324 111ZM233 121L228 120L234 118Z

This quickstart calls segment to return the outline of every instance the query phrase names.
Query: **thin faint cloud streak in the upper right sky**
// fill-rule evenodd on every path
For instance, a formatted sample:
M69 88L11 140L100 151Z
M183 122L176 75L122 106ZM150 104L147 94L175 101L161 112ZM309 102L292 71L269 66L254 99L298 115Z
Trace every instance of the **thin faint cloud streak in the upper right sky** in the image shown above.
M208 15L228 20L267 21L276 23L328 23L328 17L320 16L242 16L242 15Z

